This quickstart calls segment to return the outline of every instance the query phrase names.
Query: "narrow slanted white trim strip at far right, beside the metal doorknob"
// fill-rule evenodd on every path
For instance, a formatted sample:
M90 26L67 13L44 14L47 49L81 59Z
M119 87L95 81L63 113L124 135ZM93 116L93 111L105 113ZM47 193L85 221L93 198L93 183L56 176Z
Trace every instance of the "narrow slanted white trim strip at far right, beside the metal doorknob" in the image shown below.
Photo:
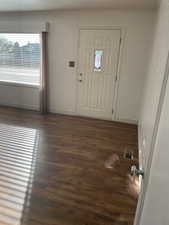
M134 225L142 225L142 224L140 224L140 222L141 222L140 220L141 220L141 215L142 215L143 206L144 206L144 200L145 200L145 196L146 196L146 192L147 192L147 188L148 188L150 170L151 170L153 154L154 154L154 149L155 149L155 143L156 143L159 122L160 122L160 118L161 118L161 112L162 112L162 107L164 104L164 97L165 97L168 81L169 81L169 54L168 54L168 58L167 58L167 62L166 62L165 74L164 74L163 83L162 83L162 87L161 87L161 93L160 93L160 98L159 98L159 103L158 103L156 120L155 120L155 125L154 125L154 130L153 130L153 137L152 137L152 142L151 142L151 146L150 146L150 154L149 154L149 158L148 158L147 167L145 168L144 179L142 180L142 187L141 187L141 192L140 192L139 200L138 200L138 204L137 204Z

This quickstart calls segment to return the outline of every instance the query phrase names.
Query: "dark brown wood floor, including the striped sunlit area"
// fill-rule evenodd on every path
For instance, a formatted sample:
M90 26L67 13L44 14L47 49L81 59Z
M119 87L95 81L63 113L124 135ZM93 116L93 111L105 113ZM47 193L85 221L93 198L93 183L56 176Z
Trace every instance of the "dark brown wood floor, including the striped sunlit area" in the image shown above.
M0 132L1 225L133 224L136 126L0 108Z

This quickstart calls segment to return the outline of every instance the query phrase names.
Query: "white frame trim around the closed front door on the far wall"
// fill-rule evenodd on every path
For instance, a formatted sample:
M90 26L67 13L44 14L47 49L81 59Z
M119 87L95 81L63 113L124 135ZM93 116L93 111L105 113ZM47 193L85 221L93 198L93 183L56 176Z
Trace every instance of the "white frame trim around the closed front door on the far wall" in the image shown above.
M120 31L120 45L119 45L119 55L118 55L118 63L116 67L116 82L114 88L114 102L113 102L113 114L112 114L112 121L119 121L117 115L117 103L118 103L118 90L120 86L120 74L121 74L121 65L122 65L122 54L124 49L124 42L125 42L125 34L126 29L121 26L80 26L78 28L78 48L77 48L77 68L76 68L76 115L78 114L78 69L79 69L79 50L80 50L80 31L81 30L119 30ZM80 115L81 116L81 115Z

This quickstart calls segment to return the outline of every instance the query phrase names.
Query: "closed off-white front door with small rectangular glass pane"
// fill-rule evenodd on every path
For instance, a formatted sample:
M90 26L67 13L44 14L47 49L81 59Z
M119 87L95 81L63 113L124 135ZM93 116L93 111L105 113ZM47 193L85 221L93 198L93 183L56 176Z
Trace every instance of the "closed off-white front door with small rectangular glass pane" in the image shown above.
M120 30L80 30L77 74L79 115L113 118Z

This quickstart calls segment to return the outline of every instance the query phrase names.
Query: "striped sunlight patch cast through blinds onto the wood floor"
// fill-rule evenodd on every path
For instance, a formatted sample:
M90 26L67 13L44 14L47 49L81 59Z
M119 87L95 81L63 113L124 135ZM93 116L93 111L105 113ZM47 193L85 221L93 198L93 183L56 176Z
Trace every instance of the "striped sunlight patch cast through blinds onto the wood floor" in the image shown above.
M20 225L34 173L39 132L0 124L0 224Z

